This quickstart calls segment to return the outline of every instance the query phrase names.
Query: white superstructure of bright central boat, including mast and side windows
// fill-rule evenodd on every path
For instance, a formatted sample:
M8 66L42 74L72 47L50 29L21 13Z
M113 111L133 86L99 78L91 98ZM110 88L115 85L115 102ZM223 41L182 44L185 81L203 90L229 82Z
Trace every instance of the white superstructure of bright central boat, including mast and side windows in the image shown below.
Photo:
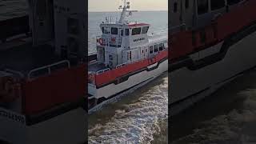
M97 37L96 46L98 67L101 68L96 70L102 70L102 66L110 70L127 63L150 58L158 54L159 50L167 48L163 42L167 43L166 38L162 41L161 39L150 41L149 24L126 20L126 12L131 14L131 11L127 11L130 8L130 2L125 2L124 6L119 8L122 9L119 21L113 22L112 18L106 18L106 22L100 25L102 35Z

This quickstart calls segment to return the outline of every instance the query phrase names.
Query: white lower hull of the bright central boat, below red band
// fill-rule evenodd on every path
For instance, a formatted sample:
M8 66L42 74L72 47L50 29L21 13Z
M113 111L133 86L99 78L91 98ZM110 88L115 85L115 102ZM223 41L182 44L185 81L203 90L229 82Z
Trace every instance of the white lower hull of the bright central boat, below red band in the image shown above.
M102 106L115 102L116 99L120 96L129 94L134 90L138 89L141 86L146 85L146 83L158 78L159 75L164 74L168 70L168 59L158 63L154 63L151 66L148 66L148 69L152 69L153 67L158 66L154 70L144 70L139 72L138 74L131 75L128 80L125 82L121 82L119 84L110 84L107 86L103 86L101 88L96 88L96 86L89 85L89 94L94 95L94 98L105 98L106 100L97 106L94 106L89 110L89 114L102 109Z

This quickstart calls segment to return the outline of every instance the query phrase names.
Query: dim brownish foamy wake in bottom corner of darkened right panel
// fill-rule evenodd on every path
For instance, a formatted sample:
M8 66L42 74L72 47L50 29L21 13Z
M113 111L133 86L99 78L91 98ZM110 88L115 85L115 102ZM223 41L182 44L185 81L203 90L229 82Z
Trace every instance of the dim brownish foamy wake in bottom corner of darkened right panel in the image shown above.
M256 143L256 89L242 90L238 93L242 100L240 109L218 115L200 126L192 134L179 138L173 144L208 143Z

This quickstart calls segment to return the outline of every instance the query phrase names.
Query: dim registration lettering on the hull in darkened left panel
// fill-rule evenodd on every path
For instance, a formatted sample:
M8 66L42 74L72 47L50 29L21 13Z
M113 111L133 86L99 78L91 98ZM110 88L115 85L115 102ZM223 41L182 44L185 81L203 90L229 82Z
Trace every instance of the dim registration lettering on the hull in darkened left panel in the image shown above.
M21 122L22 124L25 124L26 122L24 116L3 109L0 109L0 117L9 118L15 122Z

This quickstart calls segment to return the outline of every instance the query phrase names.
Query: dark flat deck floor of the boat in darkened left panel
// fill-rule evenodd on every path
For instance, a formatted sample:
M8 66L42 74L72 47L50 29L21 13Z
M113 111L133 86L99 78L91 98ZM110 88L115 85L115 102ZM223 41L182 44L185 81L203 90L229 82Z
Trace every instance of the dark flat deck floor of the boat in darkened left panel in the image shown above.
M28 74L30 70L61 61L49 45L32 46L26 43L6 50L0 50L0 70L14 70Z

